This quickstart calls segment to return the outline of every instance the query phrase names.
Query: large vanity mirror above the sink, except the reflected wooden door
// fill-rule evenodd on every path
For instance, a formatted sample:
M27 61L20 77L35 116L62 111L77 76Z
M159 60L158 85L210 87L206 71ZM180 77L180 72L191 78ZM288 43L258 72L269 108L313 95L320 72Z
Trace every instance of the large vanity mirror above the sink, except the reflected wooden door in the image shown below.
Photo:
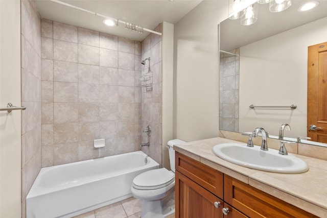
M269 12L269 4L259 5L258 21L250 26L241 26L239 19L220 23L221 130L252 132L260 126L275 137L287 123L291 131L284 139L307 135L308 46L327 41L327 2L298 12L305 2L292 1L278 13Z

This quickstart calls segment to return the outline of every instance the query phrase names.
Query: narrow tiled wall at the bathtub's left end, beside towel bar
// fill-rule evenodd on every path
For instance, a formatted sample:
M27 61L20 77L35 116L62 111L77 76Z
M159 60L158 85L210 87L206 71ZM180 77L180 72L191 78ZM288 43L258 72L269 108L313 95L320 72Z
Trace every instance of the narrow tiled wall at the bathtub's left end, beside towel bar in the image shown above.
M21 1L21 205L41 169L41 22L34 1ZM14 102L13 102L14 103ZM16 104L16 103L15 103Z

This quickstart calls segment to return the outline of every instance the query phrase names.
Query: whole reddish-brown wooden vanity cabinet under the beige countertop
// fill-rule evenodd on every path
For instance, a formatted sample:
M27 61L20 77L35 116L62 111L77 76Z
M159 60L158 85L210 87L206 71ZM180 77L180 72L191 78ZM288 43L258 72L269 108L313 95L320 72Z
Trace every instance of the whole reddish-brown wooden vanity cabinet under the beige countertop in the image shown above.
M317 217L178 152L175 217Z

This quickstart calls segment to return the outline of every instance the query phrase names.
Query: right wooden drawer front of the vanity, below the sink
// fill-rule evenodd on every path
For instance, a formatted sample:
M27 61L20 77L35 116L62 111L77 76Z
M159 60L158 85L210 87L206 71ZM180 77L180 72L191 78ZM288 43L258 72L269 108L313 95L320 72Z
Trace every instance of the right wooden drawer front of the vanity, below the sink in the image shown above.
M227 175L224 201L250 217L317 217Z

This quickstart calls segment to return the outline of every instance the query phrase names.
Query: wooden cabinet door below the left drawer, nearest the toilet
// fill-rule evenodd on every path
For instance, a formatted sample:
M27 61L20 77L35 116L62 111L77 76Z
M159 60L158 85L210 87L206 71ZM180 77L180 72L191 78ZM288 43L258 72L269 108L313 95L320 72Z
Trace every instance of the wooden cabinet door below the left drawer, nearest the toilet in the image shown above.
M223 218L222 200L178 171L175 181L176 218ZM215 202L219 202L221 206L217 208Z

